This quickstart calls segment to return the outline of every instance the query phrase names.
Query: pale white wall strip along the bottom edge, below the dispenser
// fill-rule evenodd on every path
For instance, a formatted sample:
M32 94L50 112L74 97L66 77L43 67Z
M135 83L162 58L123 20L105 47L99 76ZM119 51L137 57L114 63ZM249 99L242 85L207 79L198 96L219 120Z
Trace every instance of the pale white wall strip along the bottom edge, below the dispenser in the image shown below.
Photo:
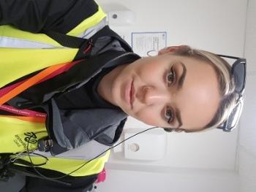
M105 183L99 184L97 192L238 192L238 177L233 172L198 172L184 170L182 173L122 172L110 169Z

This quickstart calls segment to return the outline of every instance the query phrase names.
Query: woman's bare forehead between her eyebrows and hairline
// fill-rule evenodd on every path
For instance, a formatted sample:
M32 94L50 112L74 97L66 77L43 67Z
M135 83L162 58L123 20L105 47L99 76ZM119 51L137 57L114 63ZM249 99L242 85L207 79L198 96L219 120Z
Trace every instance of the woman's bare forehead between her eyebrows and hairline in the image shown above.
M183 87L176 94L176 107L183 123L181 128L203 128L214 118L219 106L217 74L206 61L185 57L178 61L187 69ZM177 63L176 69L181 72L181 64Z

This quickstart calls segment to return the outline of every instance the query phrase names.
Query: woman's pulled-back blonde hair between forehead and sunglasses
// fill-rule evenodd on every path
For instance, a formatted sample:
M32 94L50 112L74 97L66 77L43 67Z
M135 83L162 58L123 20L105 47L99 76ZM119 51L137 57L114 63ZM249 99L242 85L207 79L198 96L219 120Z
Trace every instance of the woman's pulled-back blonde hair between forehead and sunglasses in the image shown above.
M210 53L206 50L192 49L187 45L181 46L181 48L176 50L173 54L206 61L214 67L219 81L219 93L222 100L219 103L219 107L214 118L212 118L211 122L209 122L204 128L216 128L221 125L236 106L237 94L234 93L235 83L231 74L231 66L227 61L214 53Z

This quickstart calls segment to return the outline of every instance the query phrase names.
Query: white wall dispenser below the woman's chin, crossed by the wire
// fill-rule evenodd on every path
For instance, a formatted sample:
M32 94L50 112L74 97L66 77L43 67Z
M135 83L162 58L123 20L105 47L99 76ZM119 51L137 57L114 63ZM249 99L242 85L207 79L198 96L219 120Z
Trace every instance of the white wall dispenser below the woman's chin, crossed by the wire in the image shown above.
M126 129L124 139L139 131L141 129ZM160 160L165 157L166 147L166 132L160 128L155 128L124 142L124 158L146 161Z

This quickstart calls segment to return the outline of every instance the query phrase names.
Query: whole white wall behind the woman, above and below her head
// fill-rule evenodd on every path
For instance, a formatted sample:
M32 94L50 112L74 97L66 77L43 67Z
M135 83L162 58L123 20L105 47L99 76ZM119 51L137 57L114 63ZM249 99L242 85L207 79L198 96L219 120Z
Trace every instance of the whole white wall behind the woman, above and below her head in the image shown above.
M112 27L124 34L128 42L131 32L167 31L167 45L185 44L214 53L244 55L246 0L97 1L105 11L126 7L135 12L135 25ZM146 127L132 118L126 126ZM107 164L108 180L100 189L124 191L127 188L127 191L137 191L127 183L129 181L136 186L141 184L138 191L148 191L150 188L151 191L161 191L156 189L157 186L173 186L173 191L209 191L201 183L206 183L212 191L238 191L238 175L233 172L236 166L237 140L238 128L230 134L219 130L197 134L169 134L167 155L161 161L125 161L121 158L121 153L113 154ZM174 169L176 174L172 173ZM164 173L163 170L167 171Z

